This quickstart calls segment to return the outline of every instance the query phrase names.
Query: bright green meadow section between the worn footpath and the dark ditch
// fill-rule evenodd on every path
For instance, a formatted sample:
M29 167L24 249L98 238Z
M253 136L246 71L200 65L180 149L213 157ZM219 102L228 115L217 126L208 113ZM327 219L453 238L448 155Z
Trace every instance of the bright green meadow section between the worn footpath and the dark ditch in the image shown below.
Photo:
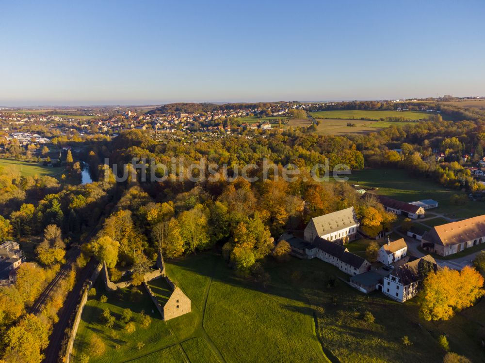
M324 362L313 312L277 267L268 293L215 272L204 327L227 362Z

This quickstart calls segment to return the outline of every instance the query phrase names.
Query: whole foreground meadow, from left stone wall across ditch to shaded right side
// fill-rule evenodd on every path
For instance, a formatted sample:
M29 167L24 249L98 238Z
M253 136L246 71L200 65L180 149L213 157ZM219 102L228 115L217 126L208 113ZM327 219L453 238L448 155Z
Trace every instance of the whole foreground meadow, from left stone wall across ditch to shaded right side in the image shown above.
M419 318L415 300L401 304L379 292L364 295L337 278L345 278L343 272L317 259L268 260L267 289L237 276L213 253L183 257L166 266L192 299L192 313L164 322L152 311L145 291L107 293L98 280L97 295L82 314L74 362L84 353L89 362L103 363L329 362L326 357L350 363L438 363L445 353L437 341L443 333L453 351L481 359L476 332L485 321L470 321L466 314L473 310L473 317L485 317L483 302L434 324ZM107 302L99 301L101 294ZM136 329L131 333L119 322L126 307L133 311ZM112 329L99 319L105 308L116 317ZM152 318L149 328L140 323L142 310ZM363 320L365 311L372 313L374 323ZM93 350L93 335L105 345L102 356ZM413 343L411 348L402 344L404 335ZM138 342L144 343L141 349Z

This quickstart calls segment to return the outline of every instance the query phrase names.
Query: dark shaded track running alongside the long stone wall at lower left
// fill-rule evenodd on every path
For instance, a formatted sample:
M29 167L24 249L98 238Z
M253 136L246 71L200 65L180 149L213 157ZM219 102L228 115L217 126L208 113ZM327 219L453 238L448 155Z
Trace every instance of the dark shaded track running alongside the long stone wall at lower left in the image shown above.
M70 318L81 300L84 283L91 277L96 268L96 259L94 257L87 263L84 269L79 273L78 282L71 292L67 295L64 306L59 312L59 321L54 325L49 337L49 347L45 350L46 358L44 363L58 363L59 352L64 339L65 330L69 326Z

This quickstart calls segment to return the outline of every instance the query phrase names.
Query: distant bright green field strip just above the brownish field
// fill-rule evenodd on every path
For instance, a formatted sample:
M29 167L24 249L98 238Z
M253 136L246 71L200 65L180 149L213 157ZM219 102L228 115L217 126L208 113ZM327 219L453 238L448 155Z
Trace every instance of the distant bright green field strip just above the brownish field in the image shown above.
M375 120L399 117L405 120L428 119L432 113L418 111L378 111L378 110L329 110L310 112L315 119Z

